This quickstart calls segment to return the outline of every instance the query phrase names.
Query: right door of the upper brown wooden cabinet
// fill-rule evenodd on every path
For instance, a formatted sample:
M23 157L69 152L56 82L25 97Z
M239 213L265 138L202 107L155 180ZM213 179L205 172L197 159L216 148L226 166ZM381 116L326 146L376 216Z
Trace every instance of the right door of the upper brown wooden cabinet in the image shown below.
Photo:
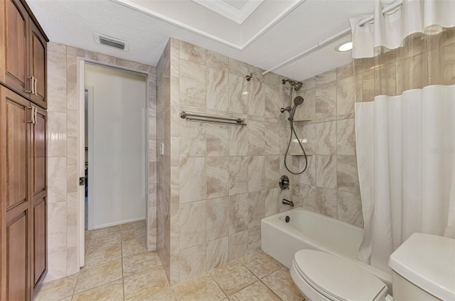
M46 108L45 82L46 82L46 41L41 35L38 27L33 21L30 26L30 74L33 75L33 93L30 94L31 101Z

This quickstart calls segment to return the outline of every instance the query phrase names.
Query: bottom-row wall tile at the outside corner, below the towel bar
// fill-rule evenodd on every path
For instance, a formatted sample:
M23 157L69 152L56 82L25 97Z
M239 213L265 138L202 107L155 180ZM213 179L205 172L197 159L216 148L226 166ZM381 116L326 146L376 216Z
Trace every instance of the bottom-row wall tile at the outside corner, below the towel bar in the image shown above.
M181 251L179 280L183 282L205 272L205 243Z

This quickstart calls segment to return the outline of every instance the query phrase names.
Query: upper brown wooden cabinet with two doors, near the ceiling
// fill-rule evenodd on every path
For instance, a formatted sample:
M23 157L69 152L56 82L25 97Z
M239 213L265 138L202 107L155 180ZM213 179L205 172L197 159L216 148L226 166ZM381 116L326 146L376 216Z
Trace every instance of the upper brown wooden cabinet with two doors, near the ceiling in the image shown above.
M0 1L0 81L46 108L46 41L28 6Z

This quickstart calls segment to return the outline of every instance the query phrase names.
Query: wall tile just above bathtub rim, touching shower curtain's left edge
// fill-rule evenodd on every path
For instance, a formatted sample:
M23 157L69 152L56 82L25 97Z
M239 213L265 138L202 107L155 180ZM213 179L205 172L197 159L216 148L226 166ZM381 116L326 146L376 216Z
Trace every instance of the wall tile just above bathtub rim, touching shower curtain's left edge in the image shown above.
M362 200L360 194L338 190L338 219L363 227Z

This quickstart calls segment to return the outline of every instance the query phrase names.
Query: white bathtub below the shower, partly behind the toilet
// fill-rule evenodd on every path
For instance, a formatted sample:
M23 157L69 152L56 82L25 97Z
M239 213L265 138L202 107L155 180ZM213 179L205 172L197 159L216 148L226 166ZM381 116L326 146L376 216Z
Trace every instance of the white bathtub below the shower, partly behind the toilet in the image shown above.
M289 216L289 223L285 221ZM357 259L363 228L343 223L319 213L295 208L263 218L261 247L288 268L298 250L321 250L351 260L378 277L392 292L392 275Z

